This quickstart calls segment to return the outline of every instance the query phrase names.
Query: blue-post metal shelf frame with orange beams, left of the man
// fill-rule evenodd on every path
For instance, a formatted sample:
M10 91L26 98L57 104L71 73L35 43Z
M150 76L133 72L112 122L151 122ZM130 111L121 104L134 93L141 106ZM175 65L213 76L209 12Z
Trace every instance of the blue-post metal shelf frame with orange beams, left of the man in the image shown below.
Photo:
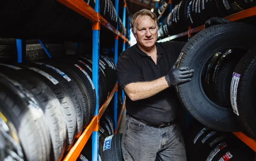
M107 22L106 19L104 19L99 14L99 0L96 0L95 2L95 8L93 9L90 7L86 2L83 0L57 0L58 2L64 4L65 6L71 8L72 10L76 11L80 15L83 15L87 19L92 21L92 83L95 87L96 91L96 108L94 112L94 116L91 120L91 122L88 124L87 128L83 131L81 136L78 138L78 140L74 143L71 150L65 155L64 161L75 161L80 152L82 151L83 147L85 146L86 142L88 141L89 137L92 134L92 161L98 161L99 157L99 121L101 116L103 115L104 111L106 110L107 106L109 105L109 102L114 97L114 122L115 122L115 133L117 133L117 126L118 120L121 120L121 117L117 118L117 80L116 85L112 89L111 93L109 94L107 100L104 102L102 107L99 108L99 45L100 45L100 26L103 25L106 28L108 28L110 31L112 31L116 36L114 37L115 46L114 46L114 54L115 54L115 64L117 63L118 59L118 38L121 37L123 39L123 50L126 49L126 42L128 43L127 48L130 47L130 37L126 38L124 35L122 35L118 31L118 24L117 28L114 28L109 22ZM119 16L118 11L118 0L115 1L115 8L116 8L116 14ZM124 0L124 7L123 7L123 24L126 27L126 0ZM118 19L118 17L117 17ZM129 18L127 20L127 28L130 29L130 22ZM128 34L130 31L128 31ZM44 45L44 43L39 40L41 46L44 48L46 54L49 58L51 58L51 55L47 49L47 47ZM76 47L77 47L76 43ZM26 59L26 40L17 39L17 63L21 63L22 60ZM121 91L123 92L123 91ZM125 107L125 98L123 94L123 106L120 113L120 116L123 114L123 109Z

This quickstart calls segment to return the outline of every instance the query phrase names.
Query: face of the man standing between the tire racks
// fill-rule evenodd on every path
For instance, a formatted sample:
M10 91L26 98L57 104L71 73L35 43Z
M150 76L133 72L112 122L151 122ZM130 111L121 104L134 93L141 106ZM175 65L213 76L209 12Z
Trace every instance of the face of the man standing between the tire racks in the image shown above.
M136 19L135 38L142 48L150 48L157 40L157 28L153 19L149 16L138 16Z

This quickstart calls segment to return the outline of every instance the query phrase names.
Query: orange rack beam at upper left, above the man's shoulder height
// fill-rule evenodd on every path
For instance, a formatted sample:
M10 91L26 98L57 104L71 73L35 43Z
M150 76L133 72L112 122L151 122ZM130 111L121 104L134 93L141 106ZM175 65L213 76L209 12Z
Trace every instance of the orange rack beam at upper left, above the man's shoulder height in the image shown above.
M85 18L93 22L99 21L103 26L108 28L114 34L118 35L123 40L125 39L124 35L122 35L118 30L116 30L116 28L114 28L109 22L107 22L106 19L104 19L100 14L98 14L92 7L90 7L83 0L57 0L57 1L71 8L73 11L76 11L80 15L83 15Z

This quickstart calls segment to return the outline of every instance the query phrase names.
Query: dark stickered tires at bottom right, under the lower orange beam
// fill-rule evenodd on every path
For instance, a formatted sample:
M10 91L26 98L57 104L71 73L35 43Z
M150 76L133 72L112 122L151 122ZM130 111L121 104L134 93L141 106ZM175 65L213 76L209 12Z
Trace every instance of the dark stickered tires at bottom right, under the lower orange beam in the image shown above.
M188 161L255 160L255 152L232 133L193 125L185 136Z

